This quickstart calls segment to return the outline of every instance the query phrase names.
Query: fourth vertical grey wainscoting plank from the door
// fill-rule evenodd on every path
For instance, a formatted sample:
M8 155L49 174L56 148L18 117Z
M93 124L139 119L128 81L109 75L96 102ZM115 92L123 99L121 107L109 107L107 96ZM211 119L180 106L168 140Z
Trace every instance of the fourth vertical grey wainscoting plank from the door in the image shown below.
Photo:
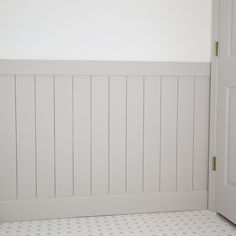
M144 86L144 192L158 192L161 79L146 77Z

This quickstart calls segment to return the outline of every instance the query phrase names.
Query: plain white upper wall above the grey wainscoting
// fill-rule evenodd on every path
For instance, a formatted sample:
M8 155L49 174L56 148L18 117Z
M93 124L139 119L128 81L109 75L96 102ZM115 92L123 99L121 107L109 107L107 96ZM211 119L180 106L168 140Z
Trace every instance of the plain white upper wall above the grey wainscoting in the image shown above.
M0 59L210 61L211 0L0 0Z

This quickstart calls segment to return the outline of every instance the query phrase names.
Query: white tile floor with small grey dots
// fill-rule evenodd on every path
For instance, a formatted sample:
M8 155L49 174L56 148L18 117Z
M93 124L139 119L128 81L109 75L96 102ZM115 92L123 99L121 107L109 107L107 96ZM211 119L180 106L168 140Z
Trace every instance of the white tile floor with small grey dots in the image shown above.
M2 223L0 235L236 236L236 226L210 211L186 211Z

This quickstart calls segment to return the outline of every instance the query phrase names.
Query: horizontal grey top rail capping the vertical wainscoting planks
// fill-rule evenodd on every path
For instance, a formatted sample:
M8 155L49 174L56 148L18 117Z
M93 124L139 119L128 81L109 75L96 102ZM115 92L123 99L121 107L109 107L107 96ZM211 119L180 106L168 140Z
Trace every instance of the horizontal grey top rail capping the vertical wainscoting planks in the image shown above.
M1 60L0 74L209 76L210 63L76 60Z

